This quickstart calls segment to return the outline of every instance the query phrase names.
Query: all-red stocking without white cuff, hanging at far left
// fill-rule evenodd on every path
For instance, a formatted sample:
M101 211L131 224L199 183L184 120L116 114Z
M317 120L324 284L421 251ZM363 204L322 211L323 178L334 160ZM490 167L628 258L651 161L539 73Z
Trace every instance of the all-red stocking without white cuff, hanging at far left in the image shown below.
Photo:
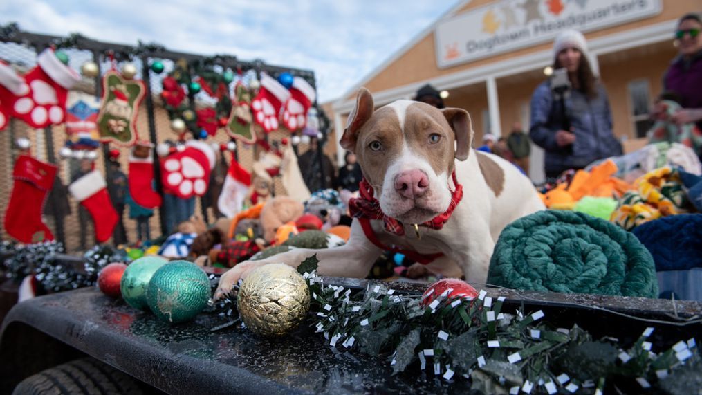
M56 166L20 155L12 177L10 203L5 211L5 230L22 243L53 240L51 230L41 220L44 201L53 187Z

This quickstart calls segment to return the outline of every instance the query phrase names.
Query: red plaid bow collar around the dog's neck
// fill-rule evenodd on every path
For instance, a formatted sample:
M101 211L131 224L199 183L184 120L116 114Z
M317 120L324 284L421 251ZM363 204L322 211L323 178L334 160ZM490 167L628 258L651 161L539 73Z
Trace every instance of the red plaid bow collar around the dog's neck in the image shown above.
M453 170L451 177L453 178L453 185L456 185L456 189L451 193L451 203L449 204L448 210L423 224L418 224L419 226L428 227L430 229L442 229L444 224L451 218L451 214L456 206L458 206L458 203L461 203L461 199L463 199L463 185L458 184L456 170ZM349 201L351 215L357 218L383 220L386 231L397 234L397 236L404 235L404 225L402 225L402 222L399 222L395 218L388 217L388 215L383 213L383 210L380 210L380 202L373 197L373 187L366 181L366 178L363 178L359 183L359 194L359 197Z

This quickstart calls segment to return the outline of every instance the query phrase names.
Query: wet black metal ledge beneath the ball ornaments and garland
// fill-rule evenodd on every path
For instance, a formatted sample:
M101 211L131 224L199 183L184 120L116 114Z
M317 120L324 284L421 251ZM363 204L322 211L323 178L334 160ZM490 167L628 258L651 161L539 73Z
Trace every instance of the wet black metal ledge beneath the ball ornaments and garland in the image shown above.
M368 281L362 280L329 280L353 288L368 285ZM385 283L385 286L402 293L420 293L427 287L416 283ZM590 304L646 318L666 319L668 314L674 313L670 301L520 292L519 295L527 297L527 302L522 302L516 301L519 295L514 291L489 290L489 294L507 297L505 308L516 309L523 304L527 311L543 309L555 325L578 323L595 330L595 335L614 335L623 337L624 341L628 337L635 339L647 326L656 326L658 337L654 341L661 347L702 333L700 324L654 325L573 306L573 303ZM675 310L681 318L689 318L702 314L702 304L677 302ZM173 394L442 394L469 390L466 380L446 382L430 374L417 374L414 368L410 369L413 374L392 376L386 356L371 357L358 351L351 354L343 347L329 347L322 335L313 333L305 324L291 335L272 340L256 337L238 324L212 331L229 319L211 314L199 314L194 321L171 326L150 313L129 307L124 301L102 295L95 288L22 302L8 314L4 330L13 321L39 328Z

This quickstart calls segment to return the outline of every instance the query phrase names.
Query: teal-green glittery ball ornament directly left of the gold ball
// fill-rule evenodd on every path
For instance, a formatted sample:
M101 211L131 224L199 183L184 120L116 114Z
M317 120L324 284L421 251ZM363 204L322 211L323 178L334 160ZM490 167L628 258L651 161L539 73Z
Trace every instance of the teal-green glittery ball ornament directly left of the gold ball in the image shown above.
M169 262L154 273L146 300L151 311L168 323L197 316L210 299L210 281L199 266L187 260Z

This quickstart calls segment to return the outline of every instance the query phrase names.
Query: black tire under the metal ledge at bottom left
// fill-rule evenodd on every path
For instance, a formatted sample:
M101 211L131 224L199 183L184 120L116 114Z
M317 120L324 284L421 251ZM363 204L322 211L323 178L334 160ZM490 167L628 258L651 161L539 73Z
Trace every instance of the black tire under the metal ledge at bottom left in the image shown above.
M93 358L76 359L22 380L13 395L142 394L126 373Z

